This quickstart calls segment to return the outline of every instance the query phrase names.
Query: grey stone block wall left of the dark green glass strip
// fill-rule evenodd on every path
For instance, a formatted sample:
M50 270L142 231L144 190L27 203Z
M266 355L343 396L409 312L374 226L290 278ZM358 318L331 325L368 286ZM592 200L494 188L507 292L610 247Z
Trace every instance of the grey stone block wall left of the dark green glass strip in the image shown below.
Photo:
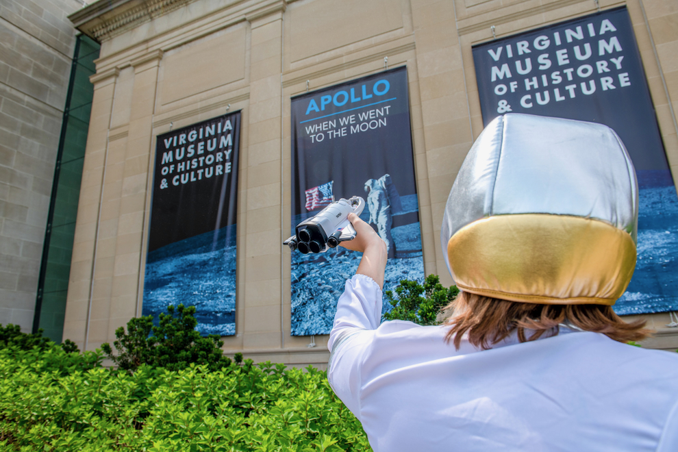
M78 0L0 3L0 324L34 323Z

